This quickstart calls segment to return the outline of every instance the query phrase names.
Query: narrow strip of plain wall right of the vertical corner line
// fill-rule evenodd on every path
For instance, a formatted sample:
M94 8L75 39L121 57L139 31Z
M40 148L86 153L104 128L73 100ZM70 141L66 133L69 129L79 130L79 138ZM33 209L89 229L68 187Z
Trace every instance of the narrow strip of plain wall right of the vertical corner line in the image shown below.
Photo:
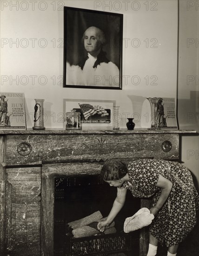
M178 120L199 132L199 1L179 1ZM182 136L181 159L199 183L199 136Z

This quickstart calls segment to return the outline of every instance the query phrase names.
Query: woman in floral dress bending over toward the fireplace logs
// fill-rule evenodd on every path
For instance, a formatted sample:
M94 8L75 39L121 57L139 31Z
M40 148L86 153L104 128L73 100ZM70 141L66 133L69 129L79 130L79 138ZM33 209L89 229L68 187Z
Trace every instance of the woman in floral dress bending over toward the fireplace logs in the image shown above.
M123 207L126 189L134 197L153 196L151 213L155 216L150 225L147 256L155 256L158 243L166 244L167 256L176 256L182 242L196 224L199 195L190 171L178 162L142 159L127 164L107 161L101 176L110 186L117 187L117 196L106 219L98 223L105 230Z

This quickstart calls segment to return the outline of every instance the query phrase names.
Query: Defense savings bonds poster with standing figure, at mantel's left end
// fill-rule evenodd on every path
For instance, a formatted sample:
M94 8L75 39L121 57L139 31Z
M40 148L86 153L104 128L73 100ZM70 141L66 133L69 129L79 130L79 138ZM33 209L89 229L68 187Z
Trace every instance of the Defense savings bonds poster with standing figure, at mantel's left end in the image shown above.
M23 93L0 92L0 129L26 129L26 113Z

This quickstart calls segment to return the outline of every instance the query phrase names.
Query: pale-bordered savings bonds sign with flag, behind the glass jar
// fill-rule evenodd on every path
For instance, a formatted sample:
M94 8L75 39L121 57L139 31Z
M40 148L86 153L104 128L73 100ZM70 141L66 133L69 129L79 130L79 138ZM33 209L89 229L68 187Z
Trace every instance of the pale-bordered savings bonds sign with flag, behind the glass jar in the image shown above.
M112 129L113 128L113 106L116 101L111 100L82 100L82 99L63 99L64 115L71 110L76 110L81 116L81 128L87 129ZM90 106L105 110L96 111L92 115L87 114ZM84 116L84 113L86 115ZM106 114L107 113L107 114ZM94 114L94 115L93 115ZM65 128L65 123L64 123Z

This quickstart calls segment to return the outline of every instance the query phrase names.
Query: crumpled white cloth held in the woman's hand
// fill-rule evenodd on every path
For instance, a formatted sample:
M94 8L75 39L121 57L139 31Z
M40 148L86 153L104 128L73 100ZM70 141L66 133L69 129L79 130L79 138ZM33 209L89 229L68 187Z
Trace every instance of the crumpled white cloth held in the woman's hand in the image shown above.
M126 218L124 222L124 232L129 233L146 227L151 224L153 219L154 215L150 213L149 209L145 207L141 208L132 217Z

